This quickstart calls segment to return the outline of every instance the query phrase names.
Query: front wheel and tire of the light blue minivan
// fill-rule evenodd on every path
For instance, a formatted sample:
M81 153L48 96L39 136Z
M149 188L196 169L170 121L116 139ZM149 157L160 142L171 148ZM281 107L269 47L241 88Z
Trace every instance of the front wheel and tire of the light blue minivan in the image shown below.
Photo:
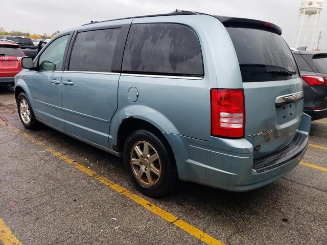
M26 93L19 93L17 97L17 109L20 121L26 129L33 130L38 128L38 121L35 119L34 112Z

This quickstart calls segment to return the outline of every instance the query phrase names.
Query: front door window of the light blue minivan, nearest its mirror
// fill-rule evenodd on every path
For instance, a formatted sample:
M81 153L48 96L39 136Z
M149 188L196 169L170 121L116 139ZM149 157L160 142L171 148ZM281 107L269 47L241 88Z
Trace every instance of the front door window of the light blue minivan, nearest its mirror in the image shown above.
M39 70L62 70L62 61L69 35L54 40L39 58Z

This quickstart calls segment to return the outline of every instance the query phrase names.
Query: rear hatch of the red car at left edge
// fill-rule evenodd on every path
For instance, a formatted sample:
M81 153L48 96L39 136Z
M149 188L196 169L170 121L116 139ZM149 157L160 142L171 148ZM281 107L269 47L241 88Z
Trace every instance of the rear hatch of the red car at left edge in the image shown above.
M18 46L0 44L0 77L14 77L21 70L22 56L25 55Z

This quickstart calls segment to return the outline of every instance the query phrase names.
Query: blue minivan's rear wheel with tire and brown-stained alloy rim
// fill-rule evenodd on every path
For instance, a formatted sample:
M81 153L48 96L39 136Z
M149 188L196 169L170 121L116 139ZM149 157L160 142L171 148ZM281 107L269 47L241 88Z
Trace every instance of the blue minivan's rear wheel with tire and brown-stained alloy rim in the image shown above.
M150 131L137 130L127 137L124 165L135 187L149 197L164 197L177 185L169 145Z

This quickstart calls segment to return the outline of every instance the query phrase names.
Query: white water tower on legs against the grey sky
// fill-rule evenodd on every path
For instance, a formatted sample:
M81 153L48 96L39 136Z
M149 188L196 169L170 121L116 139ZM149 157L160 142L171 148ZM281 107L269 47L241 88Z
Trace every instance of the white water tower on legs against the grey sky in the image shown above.
M300 13L298 15L298 21L297 26L295 29L295 34L292 42L293 47L298 46L308 46L310 47L310 50L312 48L316 48L317 43L317 28L318 28L318 22L320 17L320 12L322 10L322 0L318 1L302 1L301 7L300 7ZM311 16L314 16L314 25L312 25ZM304 26L304 35L302 33L303 29L303 23L306 19L306 25ZM310 21L311 20L311 21ZM311 36L311 42L310 45L306 45L307 43L307 36L308 32Z

